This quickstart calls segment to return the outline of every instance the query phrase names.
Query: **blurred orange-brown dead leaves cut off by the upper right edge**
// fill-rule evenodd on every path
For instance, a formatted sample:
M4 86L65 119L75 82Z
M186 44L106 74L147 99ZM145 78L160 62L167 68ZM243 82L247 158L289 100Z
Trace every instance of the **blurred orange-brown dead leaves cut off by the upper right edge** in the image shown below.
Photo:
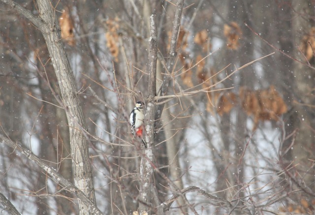
M301 41L300 49L307 60L314 57L315 48L315 27L311 27L308 34L304 35Z

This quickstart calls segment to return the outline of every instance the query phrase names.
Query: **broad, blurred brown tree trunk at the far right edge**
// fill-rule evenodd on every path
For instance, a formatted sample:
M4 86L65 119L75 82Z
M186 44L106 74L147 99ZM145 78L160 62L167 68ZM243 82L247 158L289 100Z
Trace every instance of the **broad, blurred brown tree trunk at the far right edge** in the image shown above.
M311 3L309 0L303 0L299 2L292 1L292 4L294 5L295 10L305 10L306 14L309 14L308 16L294 20L295 30L293 30L293 32L299 32L300 29L309 30L310 26L314 26L315 22L313 17L315 12L314 8L310 7L310 4L314 6L314 3ZM309 41L305 42L310 43ZM300 41L296 41L296 43L299 44ZM311 46L311 43L308 44L308 46ZM314 47L312 49L314 49ZM312 66L314 66L314 62L315 57L313 56L313 58L310 59ZM303 184L305 183L306 187L309 187L314 191L314 174L312 174L309 169L314 165L313 161L315 159L315 111L314 107L311 107L315 104L315 71L301 63L294 62L293 65L295 66L293 67L295 82L293 89L296 96L295 99L300 104L294 105L295 114L293 126L299 130L297 132L295 144L292 147L291 159L294 159L295 163L299 164L298 169L300 169L301 173L303 172L303 174L305 174L305 176L303 176ZM290 71L287 72L290 73ZM297 198L297 201L300 201L299 197Z

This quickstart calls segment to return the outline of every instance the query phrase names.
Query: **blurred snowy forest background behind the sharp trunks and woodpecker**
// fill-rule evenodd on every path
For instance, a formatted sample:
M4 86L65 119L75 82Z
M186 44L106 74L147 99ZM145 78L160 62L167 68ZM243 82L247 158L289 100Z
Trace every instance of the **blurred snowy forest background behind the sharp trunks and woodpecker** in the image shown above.
M33 0L16 2L38 15ZM157 15L157 91L166 73L176 1L51 3L91 135L97 207L132 214L141 179L128 115L135 102L146 101L151 14ZM0 10L0 134L72 182L67 119L43 36L10 6L0 3ZM166 213L313 214L315 1L185 0L180 29L168 94L200 93L164 107L155 185L161 202L174 194L169 181L220 199L189 192ZM78 213L71 193L58 192L45 172L4 144L0 173L0 192L20 213Z

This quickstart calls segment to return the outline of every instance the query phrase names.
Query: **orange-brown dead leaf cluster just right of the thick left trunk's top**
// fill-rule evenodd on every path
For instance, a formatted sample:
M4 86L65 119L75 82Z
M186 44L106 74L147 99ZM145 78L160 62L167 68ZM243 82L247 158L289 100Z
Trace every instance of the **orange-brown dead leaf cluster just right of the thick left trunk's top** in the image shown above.
M68 43L69 46L75 46L74 26L69 11L63 10L63 14L59 18L59 25L61 28L61 37Z

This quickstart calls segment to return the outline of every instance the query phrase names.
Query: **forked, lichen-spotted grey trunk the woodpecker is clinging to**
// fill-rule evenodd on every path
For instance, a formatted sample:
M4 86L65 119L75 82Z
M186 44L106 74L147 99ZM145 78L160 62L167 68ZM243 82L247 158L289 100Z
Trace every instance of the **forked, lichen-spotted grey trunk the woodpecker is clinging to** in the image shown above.
M172 38L171 38L171 45L170 51L168 54L168 60L166 62L165 70L169 73L172 72L174 67L174 60L177 55L176 53L176 45L177 45L177 38L178 33L181 25L181 17L182 17L182 10L184 6L184 0L178 0L176 4L176 12L174 18L174 27L172 31ZM156 78L157 78L157 27L155 21L155 15L150 17L150 39L149 39L149 46L150 46L150 54L149 54L149 88L148 88L148 99L147 99L147 113L145 117L145 131L146 131L146 142L148 144L148 150L143 149L142 151L142 158L140 163L140 177L141 177L141 184L140 184L140 192L139 192L139 211L140 214L142 213L151 213L149 212L149 208L152 207L150 202L151 198L151 191L156 189L153 186L152 179L154 173L154 166L153 161L155 161L154 151L154 137L155 137L155 125L156 119L160 119L164 103L157 106L155 104L156 99ZM160 95L166 95L169 81L171 77L165 75L163 77L163 83L161 85L161 92ZM156 195L156 190L153 190L153 195ZM156 196L157 197L157 196ZM158 198L155 198L158 199ZM156 206L158 206L158 202L156 201ZM158 214L163 214L160 207L158 207Z

